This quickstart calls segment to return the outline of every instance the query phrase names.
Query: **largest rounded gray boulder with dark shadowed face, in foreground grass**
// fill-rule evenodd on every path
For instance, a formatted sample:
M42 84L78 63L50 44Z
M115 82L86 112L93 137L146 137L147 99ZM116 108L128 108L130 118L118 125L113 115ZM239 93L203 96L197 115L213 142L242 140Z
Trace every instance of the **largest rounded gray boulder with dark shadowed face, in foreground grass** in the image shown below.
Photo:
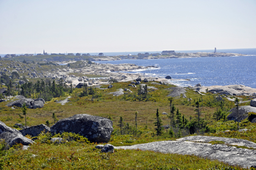
M73 132L92 142L108 142L113 132L113 122L108 118L79 114L58 121L51 127L51 132Z

